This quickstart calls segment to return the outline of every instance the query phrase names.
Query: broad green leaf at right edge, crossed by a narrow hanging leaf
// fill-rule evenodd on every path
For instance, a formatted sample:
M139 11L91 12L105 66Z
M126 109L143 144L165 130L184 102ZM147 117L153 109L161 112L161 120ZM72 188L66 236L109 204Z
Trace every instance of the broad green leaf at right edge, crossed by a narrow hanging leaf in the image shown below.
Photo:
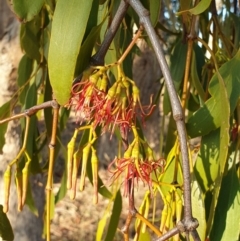
M209 84L209 93L212 97L205 102L203 107L193 113L186 125L191 137L206 135L220 127L224 122L224 125L228 125L227 118L229 114L233 113L240 96L239 65L240 50L234 58L219 69L224 81L223 84L220 84L221 77L214 74ZM225 96L225 88L228 98ZM230 105L229 114L228 103Z

